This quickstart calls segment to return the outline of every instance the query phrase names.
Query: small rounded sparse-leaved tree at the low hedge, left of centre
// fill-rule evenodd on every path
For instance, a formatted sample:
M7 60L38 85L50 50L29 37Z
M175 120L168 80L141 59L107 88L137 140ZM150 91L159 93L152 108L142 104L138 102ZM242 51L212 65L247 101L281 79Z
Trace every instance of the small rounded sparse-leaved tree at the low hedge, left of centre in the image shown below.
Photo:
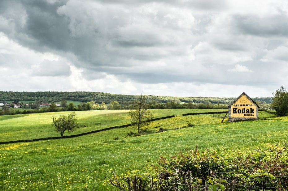
M75 112L70 113L68 116L61 115L60 117L51 117L52 125L55 127L55 131L57 131L61 138L63 138L63 134L66 130L69 132L75 131L77 127L77 116Z

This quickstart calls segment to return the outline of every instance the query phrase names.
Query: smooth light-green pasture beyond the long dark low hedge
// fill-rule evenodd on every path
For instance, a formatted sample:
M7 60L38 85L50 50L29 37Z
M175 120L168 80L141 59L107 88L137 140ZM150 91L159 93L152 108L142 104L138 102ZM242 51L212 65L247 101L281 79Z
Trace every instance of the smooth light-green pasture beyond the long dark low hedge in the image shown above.
M155 109L151 110L155 118L170 115L181 115L190 112L225 111L225 110L206 110L206 109ZM37 139L46 137L57 137L57 132L53 131L51 117L68 115L70 112L46 112L33 114L19 114L0 116L1 131L0 142ZM94 110L76 111L80 128L76 131L64 135L85 133L93 130L104 129L107 127L125 125L130 123L128 110Z

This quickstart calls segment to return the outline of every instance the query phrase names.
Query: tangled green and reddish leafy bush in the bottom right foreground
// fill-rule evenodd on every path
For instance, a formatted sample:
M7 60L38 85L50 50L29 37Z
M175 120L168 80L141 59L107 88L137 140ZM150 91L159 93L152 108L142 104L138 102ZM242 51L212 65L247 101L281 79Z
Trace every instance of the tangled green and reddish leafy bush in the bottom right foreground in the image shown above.
M160 158L154 177L133 173L117 176L109 183L119 190L287 190L288 151L268 145L254 151L178 153Z

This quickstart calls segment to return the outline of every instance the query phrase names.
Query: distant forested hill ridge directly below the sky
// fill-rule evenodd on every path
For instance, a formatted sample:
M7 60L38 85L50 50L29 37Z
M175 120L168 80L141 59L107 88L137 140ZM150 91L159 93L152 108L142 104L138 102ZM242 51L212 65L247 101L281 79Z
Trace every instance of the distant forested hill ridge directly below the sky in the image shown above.
M113 101L118 101L120 104L137 100L139 95L122 95L111 94L103 92L89 92L89 91L36 91L36 92L18 92L18 91L0 91L0 102L12 100L39 100L46 103L60 102L61 100L72 100L80 102L94 101L95 103L109 104ZM165 104L168 102L175 103L203 103L203 104L230 104L235 97L220 98L220 97L177 97L177 96L155 96L146 95L147 102L156 102L158 104ZM255 102L270 104L272 97L256 97L252 98Z

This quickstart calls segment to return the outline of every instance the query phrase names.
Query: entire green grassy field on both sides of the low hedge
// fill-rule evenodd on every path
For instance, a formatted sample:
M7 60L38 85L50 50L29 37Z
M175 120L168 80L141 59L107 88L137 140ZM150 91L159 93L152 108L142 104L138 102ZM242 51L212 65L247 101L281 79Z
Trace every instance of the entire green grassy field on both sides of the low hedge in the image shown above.
M153 134L127 136L133 127L111 129L76 138L0 145L0 190L114 190L105 184L111 171L152 172L160 155L194 149L249 150L267 144L286 143L288 118L259 112L258 121L224 123L213 114L184 113L225 110L152 110L154 117L177 117L153 121ZM78 111L82 126L73 134L129 124L128 110ZM0 116L0 142L59 136L50 125L51 112ZM224 114L220 114L224 115ZM191 123L194 127L187 127ZM83 127L86 126L86 127ZM164 132L157 133L159 128ZM71 133L72 134L72 133ZM65 132L64 135L69 135Z

